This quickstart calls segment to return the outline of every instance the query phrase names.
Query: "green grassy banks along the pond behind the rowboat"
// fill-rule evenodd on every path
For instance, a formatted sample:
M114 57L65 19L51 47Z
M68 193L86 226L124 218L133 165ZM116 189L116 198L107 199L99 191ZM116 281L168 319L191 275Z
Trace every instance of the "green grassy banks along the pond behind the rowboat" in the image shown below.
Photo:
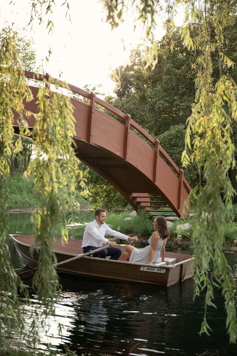
M31 211L36 205L34 198L34 182L32 177L24 178L22 172L16 171L15 179L9 178L8 184L8 199L7 205L10 211ZM77 193L77 201L82 209L89 209L88 203L83 197ZM153 232L153 220L148 218L145 211L141 211L139 215L131 216L131 210L122 211L120 213L107 212L106 223L111 225L112 229L120 231L129 236L138 236L140 241L147 241ZM232 246L237 239L237 204L233 207L233 223L224 226L223 235L225 238L225 246ZM75 215L76 218L76 215ZM187 218L184 223L191 225L190 229L182 229L177 231L177 225L181 224L179 220L175 220L169 226L169 236L171 243L181 247L188 247L192 245L193 231L192 218ZM179 237L179 239L177 239Z

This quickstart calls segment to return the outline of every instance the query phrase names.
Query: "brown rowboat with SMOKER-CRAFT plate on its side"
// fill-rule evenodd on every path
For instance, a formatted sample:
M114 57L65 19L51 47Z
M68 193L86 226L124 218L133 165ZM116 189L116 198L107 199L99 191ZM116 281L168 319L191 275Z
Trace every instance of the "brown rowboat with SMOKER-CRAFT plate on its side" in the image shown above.
M31 247L35 245L35 238L26 235L10 235L10 237L25 265L32 268L37 267L38 248L34 248L33 253L31 251ZM73 260L72 257L82 255L81 245L82 240L69 239L67 244L62 244L61 239L56 238L53 242L53 252L59 264L69 259ZM118 247L124 252L126 245L118 245ZM169 260L169 265L162 262L161 257L152 265L147 265L124 262L122 255L118 261L85 256L62 263L57 266L57 271L84 276L87 279L96 278L108 282L145 283L159 286L170 286L192 277L194 256L166 252L165 258Z

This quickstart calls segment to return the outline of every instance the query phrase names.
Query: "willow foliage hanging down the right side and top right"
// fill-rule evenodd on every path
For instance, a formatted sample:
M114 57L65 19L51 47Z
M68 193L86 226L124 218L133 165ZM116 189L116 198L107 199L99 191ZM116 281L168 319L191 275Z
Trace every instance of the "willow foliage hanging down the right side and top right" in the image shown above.
M150 28L156 26L153 11L156 12L156 0L140 0L140 16L152 19ZM195 254L195 295L205 290L205 315L200 333L208 333L206 320L208 305L215 307L214 289L222 290L227 312L226 326L230 342L236 342L236 285L230 266L228 266L223 246L223 224L231 221L229 212L232 209L232 198L236 194L228 171L235 166L234 146L231 141L231 124L237 118L236 83L230 77L222 76L224 66L234 66L231 58L227 58L220 48L225 43L225 28L236 21L237 4L230 0L165 0L163 11L167 19L165 28L167 38L174 27L174 6L181 3L185 9L183 40L185 46L194 52L193 68L196 76L196 100L192 115L187 121L186 148L183 152L183 165L195 163L200 184L190 193L195 205L194 215L194 254ZM128 3L129 4L129 3ZM133 0L131 5L137 5ZM123 2L104 1L109 22L114 26L123 21ZM117 17L116 17L117 16ZM152 16L152 17L151 17ZM147 23L143 19L143 23ZM153 56L153 66L156 55L152 52L151 38L147 53ZM220 78L214 85L212 78L211 53L219 51ZM173 50L171 42L171 50ZM148 62L147 62L148 63ZM117 78L118 81L118 78ZM194 141L190 142L190 137ZM189 153L191 150L191 155ZM202 184L201 182L205 182Z

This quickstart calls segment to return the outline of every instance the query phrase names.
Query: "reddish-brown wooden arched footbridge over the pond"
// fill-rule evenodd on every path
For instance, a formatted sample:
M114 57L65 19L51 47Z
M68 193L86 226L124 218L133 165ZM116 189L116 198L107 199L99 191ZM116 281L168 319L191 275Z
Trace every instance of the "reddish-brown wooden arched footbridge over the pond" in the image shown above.
M49 74L25 71L24 75L45 82L49 88L51 84L65 88L64 82ZM129 114L99 99L92 91L88 93L74 85L67 85L73 93L90 100L88 105L71 98L76 120L76 156L111 183L136 211L144 207L150 215L162 212L180 217L191 188L183 170L176 166L159 141L136 124ZM38 87L30 89L36 98ZM95 104L122 119L124 124L97 109ZM25 103L25 109L37 112L36 100ZM16 114L15 132L19 126L17 119ZM26 117L26 120L29 127L34 126L33 116ZM185 215L188 214L186 209Z

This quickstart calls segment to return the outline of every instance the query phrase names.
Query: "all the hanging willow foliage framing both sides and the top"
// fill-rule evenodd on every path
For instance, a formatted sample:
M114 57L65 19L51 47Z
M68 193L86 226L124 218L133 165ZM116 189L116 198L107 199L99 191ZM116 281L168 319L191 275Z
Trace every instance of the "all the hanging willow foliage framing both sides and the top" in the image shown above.
M123 19L125 2L117 0L103 2L108 10L107 21L113 26L117 26L118 22ZM179 1L177 0L177 2ZM64 4L67 12L69 2L66 1ZM141 0L138 2L135 0L132 4L135 4L134 6L138 10L138 18L145 26L148 25L145 33L151 46L145 51L146 66L154 67L157 62L157 47L153 41L152 28L155 27L157 1ZM202 172L206 180L205 186L198 185L192 194L192 196L198 194L196 225L194 227L196 233L194 239L196 295L199 295L200 289L206 289L205 307L207 308L208 305L213 305L214 287L222 289L226 301L227 329L230 341L235 342L237 335L236 286L233 283L232 271L222 252L222 227L224 217L230 221L228 210L232 207L231 199L235 194L228 178L228 171L234 162L230 125L237 117L237 103L236 84L230 77L222 75L225 66L231 68L231 66L234 67L234 64L226 56L225 51L221 51L221 47L224 43L225 29L235 22L237 5L230 0L222 2L212 0L210 3L204 0L199 9L196 9L192 1L185 1L185 4L187 5L186 18L190 21L184 26L182 36L185 45L188 48L193 48L196 54L193 66L197 70L195 80L197 90L195 105L187 128L187 149L183 153L183 163L187 165L190 162L195 162L199 174L201 175ZM44 11L49 16L47 28L49 33L52 32L53 22L50 16L55 5L54 1L31 0L31 5L30 22L35 18L42 21L42 11ZM169 35L172 27L173 9L170 2L167 1L165 5L167 5L168 14L166 28L167 35ZM190 26L194 19L197 24L197 32L195 38L192 39ZM212 36L212 29L215 36ZM219 54L219 79L214 86L211 52L215 49ZM7 226L5 202L6 179L10 172L9 159L12 151L17 153L22 150L20 138L16 142L16 146L13 147L13 113L17 111L20 115L21 134L30 136L23 119L24 114L29 114L24 111L23 98L25 100L32 99L23 77L22 64L17 57L15 43L9 32L1 41L0 69L0 308L4 325L0 330L0 342L3 342L12 334L14 335L14 332L19 333L24 330L24 319L18 309L17 290L18 286L23 290L23 286L9 263L9 252L5 244ZM67 234L66 214L75 207L73 199L75 189L72 182L72 194L69 196L65 185L70 179L71 167L76 169L76 159L72 150L71 137L74 135L74 123L70 100L58 93L53 93L49 100L50 93L47 82L45 83L46 86L39 89L39 114L33 130L33 137L37 144L37 157L34 163L29 165L27 173L34 174L39 201L34 213L34 220L36 241L41 246L41 256L39 273L33 283L47 314L53 309L54 298L60 287L56 271L52 267L55 257L51 253L50 241L46 236L53 236L53 227L59 222L63 223L62 236ZM44 127L43 130L42 127ZM192 134L195 137L193 148L190 142ZM193 152L191 155L189 155L188 148ZM44 159L42 159L42 152L45 155ZM58 161L59 155L64 158L63 161ZM57 174L60 177L59 182L55 178ZM61 194L59 194L59 187ZM213 269L211 269L212 263ZM46 268L43 268L43 265ZM35 329L32 330L35 331ZM201 331L208 332L206 314Z

